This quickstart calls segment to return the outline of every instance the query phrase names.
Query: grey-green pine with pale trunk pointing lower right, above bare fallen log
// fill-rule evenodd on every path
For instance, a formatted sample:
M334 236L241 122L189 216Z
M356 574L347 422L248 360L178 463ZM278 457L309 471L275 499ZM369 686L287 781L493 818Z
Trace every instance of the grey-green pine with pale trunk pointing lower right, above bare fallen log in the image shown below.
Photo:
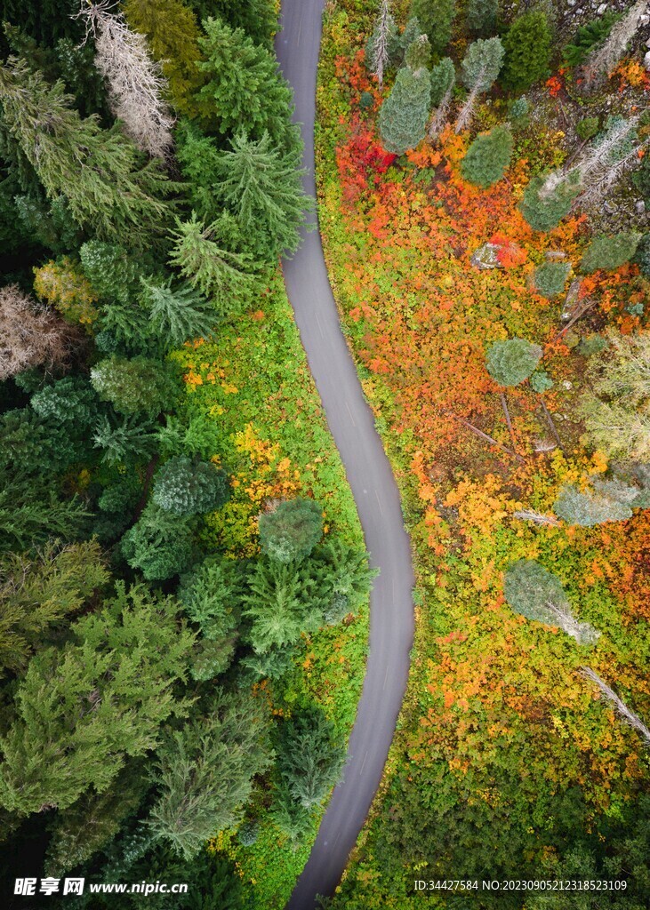
M594 644L599 638L600 633L588 622L577 622L559 579L539 562L513 562L505 572L503 592L514 612L535 622L559 626L578 644Z

